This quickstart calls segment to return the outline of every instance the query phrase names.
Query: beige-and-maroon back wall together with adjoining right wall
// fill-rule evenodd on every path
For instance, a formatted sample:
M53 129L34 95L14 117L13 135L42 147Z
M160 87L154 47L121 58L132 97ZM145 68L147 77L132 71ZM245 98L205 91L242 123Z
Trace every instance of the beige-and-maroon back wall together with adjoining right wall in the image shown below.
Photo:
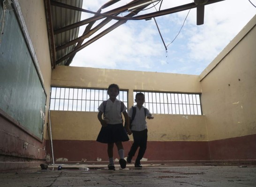
M151 160L256 159L256 16L200 76L59 66L52 86L202 93L203 115L155 115L148 122L145 158ZM107 160L97 143L96 112L51 111L55 158ZM124 143L125 155L132 144ZM114 157L118 158L115 151Z

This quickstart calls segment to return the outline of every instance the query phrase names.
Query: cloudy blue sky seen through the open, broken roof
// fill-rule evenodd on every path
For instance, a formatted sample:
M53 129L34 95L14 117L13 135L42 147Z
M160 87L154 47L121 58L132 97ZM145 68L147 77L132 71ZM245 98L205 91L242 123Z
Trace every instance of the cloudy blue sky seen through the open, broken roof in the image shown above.
M101 13L130 1L120 0ZM256 0L250 1L256 6ZM96 12L106 2L108 0L83 0L83 8ZM163 0L161 10L191 2L193 0ZM204 24L200 26L196 25L196 8L156 17L163 40L168 45L167 51L154 19L128 21L76 53L70 66L200 75L255 16L256 7L251 3L249 0L224 0L206 5ZM149 6L152 8L138 15L155 12L159 5ZM91 16L82 13L81 20ZM84 29L85 26L80 27L79 36Z

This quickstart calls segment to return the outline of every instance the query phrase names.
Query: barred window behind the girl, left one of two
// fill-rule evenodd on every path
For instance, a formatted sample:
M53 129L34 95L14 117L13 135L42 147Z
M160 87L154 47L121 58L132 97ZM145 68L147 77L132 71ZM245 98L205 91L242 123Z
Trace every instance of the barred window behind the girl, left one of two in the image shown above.
M128 104L127 91L120 90L117 99ZM98 112L98 106L109 98L105 89L51 88L50 110Z

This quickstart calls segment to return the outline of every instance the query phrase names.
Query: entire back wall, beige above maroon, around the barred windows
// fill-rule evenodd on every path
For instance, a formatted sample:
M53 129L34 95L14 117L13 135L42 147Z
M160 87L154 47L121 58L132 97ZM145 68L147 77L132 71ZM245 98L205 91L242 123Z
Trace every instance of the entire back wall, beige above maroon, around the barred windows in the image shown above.
M52 73L52 86L107 88L111 83L128 90L128 106L133 105L134 90L201 93L199 76L195 75L70 66L58 66ZM95 141L101 127L97 114L51 111L56 159L81 161L86 158L94 161L99 157L108 160L106 145ZM204 160L209 157L203 115L157 114L154 120L148 121L148 129L145 158L149 160ZM131 142L124 143L124 146L127 155ZM114 156L118 157L117 154Z

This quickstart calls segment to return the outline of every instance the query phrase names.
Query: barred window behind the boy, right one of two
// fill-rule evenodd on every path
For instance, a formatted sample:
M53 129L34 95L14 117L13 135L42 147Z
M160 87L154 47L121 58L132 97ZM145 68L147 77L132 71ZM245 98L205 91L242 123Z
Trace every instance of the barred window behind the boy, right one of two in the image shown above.
M134 99L138 92L133 93ZM143 106L153 114L202 115L200 94L142 93L145 95Z

